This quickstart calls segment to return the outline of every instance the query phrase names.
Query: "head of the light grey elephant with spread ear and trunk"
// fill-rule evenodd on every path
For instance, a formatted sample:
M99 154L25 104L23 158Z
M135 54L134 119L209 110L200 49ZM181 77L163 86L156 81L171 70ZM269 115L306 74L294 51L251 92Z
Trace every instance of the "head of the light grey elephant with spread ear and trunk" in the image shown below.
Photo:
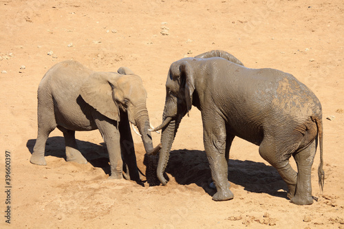
M120 70L122 69L122 70ZM128 69L118 72L126 74ZM138 127L144 149L153 152L153 142L146 106L147 92L142 80L134 74L94 72L80 89L80 96L107 118L120 122L120 113L126 112L129 122ZM134 129L135 130L135 129Z

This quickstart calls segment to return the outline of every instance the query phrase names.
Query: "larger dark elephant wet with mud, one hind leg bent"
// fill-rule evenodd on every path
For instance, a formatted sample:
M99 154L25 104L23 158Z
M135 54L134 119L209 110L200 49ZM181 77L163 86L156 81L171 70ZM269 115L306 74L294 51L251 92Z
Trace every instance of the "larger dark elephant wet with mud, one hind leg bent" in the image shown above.
M233 199L228 158L235 136L259 146L259 154L288 185L294 204L312 204L311 168L320 146L319 186L323 190L321 103L291 74L276 69L249 69L220 57L182 58L171 64L166 80L162 149L157 175L163 173L180 121L191 107L202 113L204 149L217 193L216 201ZM296 173L289 164L297 162Z

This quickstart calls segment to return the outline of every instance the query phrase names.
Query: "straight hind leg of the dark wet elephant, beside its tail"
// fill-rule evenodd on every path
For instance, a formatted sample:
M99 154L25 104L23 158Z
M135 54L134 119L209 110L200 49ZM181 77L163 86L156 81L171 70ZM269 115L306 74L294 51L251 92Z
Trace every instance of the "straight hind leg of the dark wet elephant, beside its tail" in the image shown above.
M294 155L297 162L297 186L290 202L299 205L313 204L311 171L316 153L316 142Z

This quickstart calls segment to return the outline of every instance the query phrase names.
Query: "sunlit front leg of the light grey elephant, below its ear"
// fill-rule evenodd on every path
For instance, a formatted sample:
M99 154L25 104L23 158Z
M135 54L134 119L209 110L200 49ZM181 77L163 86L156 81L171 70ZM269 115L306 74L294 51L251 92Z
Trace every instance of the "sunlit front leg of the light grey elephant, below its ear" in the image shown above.
M96 125L102 133L104 142L107 146L107 152L109 153L111 175L110 179L122 179L122 156L120 154L120 132L118 131L118 122L111 120L98 111L95 111L94 119Z

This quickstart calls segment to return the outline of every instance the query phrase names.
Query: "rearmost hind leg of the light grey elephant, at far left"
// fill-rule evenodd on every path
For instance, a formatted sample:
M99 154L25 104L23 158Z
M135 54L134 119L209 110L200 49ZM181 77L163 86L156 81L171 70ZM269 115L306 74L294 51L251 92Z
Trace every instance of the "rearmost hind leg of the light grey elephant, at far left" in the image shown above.
M39 96L39 106L37 111L38 133L36 144L34 144L34 152L31 155L30 162L32 164L46 165L44 158L45 143L49 134L56 128L54 115L54 103L51 96L42 99Z

